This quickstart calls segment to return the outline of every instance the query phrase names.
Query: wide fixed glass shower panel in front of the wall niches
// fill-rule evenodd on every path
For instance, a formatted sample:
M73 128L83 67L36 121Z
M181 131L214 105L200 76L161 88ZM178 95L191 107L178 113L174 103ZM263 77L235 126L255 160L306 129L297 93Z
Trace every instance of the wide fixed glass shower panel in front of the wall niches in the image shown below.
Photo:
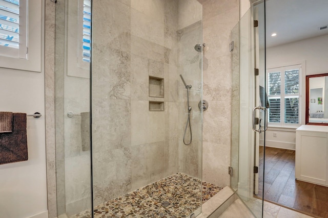
M201 4L113 0L92 6L95 216L199 213L202 53L194 46L202 44ZM191 132L184 134L188 117ZM186 141L192 136L188 146L183 135Z

